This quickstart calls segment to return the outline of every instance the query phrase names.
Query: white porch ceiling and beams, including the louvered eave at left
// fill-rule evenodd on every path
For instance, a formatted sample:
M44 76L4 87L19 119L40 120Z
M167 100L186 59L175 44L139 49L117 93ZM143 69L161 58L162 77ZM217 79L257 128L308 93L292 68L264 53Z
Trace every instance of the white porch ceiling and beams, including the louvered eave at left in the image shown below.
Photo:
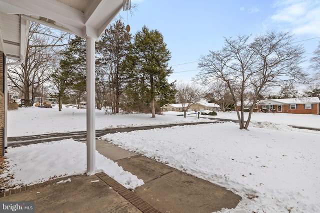
M123 0L0 0L0 51L23 59L27 20L98 38L122 6Z

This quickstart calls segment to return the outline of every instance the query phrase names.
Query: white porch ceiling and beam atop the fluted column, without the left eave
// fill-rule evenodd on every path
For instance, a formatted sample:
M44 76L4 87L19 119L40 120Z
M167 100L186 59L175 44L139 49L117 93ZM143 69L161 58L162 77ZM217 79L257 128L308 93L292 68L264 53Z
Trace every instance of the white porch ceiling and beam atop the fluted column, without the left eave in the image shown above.
M0 0L0 11L80 37L99 37L122 8L123 0Z

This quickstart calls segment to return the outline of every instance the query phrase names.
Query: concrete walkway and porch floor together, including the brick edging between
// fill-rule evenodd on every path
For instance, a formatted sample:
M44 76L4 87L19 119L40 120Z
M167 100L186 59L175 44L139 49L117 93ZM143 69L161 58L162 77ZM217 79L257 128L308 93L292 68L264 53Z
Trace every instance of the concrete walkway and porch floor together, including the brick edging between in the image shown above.
M36 213L211 213L235 208L241 200L225 188L106 141L97 140L96 150L144 185L131 192L104 173L80 175L2 193L0 202L34 201Z

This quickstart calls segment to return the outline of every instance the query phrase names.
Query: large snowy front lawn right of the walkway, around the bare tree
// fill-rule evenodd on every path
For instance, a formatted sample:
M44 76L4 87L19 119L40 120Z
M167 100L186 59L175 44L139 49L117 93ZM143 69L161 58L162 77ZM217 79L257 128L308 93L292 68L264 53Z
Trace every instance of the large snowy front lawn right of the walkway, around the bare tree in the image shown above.
M320 212L318 132L287 128L246 131L228 122L103 138L230 189L242 197L237 210Z

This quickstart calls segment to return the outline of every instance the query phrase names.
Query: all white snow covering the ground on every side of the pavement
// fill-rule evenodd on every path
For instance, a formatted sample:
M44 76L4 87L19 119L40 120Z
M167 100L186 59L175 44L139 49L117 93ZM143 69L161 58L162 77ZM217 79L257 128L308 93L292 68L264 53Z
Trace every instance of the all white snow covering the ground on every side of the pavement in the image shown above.
M195 114L187 118L177 114L181 113L165 112L153 119L145 114L105 115L96 111L96 129L207 121L197 119ZM234 112L206 117L237 118ZM56 107L19 108L9 111L8 119L9 137L85 130L83 109L63 108L58 112ZM24 125L18 124L21 119ZM242 197L234 210L224 209L222 213L320 212L320 132L287 126L320 128L320 116L253 113L251 121L249 130L224 122L107 134L102 138ZM15 184L83 174L84 156L85 144L72 139L11 148L6 154ZM143 184L143 180L98 153L96 167L127 188Z

